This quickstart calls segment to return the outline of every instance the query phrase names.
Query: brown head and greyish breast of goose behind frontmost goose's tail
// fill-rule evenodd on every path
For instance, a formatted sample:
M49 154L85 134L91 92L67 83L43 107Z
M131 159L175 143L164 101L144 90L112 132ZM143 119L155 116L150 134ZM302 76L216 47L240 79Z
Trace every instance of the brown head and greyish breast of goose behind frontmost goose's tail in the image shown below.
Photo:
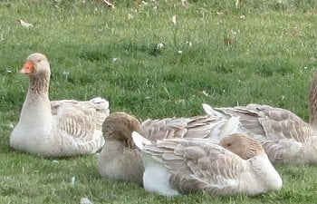
M132 131L139 131L139 127L139 120L125 112L114 112L106 118L102 125L106 142L98 159L101 176L142 183L142 160L130 136Z

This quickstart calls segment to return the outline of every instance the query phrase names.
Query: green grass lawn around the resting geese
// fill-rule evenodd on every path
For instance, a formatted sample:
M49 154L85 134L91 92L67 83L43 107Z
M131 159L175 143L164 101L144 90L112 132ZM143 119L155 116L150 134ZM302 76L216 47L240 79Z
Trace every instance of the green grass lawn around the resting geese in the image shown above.
M109 9L79 0L0 1L0 203L79 203L82 197L94 203L314 203L314 166L277 167L283 189L255 198L167 199L101 179L95 155L48 160L9 148L28 84L18 71L34 52L52 64L52 100L103 96L112 112L141 119L197 115L203 102L257 102L308 119L317 64L315 1L115 3Z

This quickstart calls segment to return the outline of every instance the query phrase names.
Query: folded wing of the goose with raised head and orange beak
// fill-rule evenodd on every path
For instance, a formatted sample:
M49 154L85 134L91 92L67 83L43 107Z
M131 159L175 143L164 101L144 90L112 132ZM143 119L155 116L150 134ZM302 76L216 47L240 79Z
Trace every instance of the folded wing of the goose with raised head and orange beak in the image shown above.
M109 115L108 102L94 98L87 102L55 101L52 112L59 131L79 149L99 150L104 144L101 126ZM87 149L87 150L86 150Z

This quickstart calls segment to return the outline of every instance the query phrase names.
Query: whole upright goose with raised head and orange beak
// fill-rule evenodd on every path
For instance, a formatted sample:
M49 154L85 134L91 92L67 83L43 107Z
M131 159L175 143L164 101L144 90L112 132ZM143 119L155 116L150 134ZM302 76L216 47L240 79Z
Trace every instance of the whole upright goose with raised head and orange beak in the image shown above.
M50 64L42 53L32 53L20 71L29 76L29 88L20 119L10 135L10 146L43 157L91 154L104 145L101 126L109 115L109 102L50 102Z

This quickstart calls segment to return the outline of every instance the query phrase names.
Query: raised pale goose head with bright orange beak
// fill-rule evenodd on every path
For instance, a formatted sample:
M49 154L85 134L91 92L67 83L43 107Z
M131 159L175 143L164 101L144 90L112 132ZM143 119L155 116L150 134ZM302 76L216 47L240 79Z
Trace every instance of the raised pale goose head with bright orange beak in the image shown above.
M50 75L50 64L43 53L32 53L26 58L20 73L29 76Z

